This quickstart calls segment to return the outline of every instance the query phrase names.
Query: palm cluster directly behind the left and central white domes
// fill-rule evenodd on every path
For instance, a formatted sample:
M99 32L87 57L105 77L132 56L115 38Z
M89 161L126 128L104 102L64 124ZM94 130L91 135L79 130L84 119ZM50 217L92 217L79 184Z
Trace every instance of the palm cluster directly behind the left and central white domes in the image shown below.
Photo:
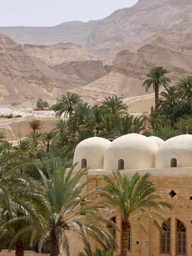
M114 95L105 98L100 105L90 106L76 94L68 93L58 99L52 107L56 117L64 117L56 123L58 146L63 148L65 156L72 157L74 148L81 140L92 136L116 139L132 132L139 133L144 125L144 117L133 118L127 111L127 105Z

